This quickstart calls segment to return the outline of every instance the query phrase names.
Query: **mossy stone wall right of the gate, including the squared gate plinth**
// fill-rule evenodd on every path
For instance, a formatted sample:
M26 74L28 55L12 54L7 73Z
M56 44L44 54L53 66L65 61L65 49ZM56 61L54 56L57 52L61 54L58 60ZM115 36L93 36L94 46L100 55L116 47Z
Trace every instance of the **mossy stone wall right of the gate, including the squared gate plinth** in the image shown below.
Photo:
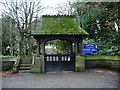
M76 71L85 71L91 67L120 71L120 60L116 56L76 56Z

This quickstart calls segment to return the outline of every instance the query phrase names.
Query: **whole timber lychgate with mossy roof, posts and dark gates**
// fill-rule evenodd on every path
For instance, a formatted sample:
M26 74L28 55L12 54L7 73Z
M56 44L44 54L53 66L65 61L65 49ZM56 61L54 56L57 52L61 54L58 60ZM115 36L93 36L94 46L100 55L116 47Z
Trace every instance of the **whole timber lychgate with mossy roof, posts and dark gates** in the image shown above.
M82 40L86 35L88 33L78 26L74 16L42 16L41 26L32 32L32 36L37 42L37 56L44 56L44 71L75 71L76 55L81 55ZM46 54L45 44L56 39L68 41L71 45L71 53ZM75 52L72 51L73 44Z

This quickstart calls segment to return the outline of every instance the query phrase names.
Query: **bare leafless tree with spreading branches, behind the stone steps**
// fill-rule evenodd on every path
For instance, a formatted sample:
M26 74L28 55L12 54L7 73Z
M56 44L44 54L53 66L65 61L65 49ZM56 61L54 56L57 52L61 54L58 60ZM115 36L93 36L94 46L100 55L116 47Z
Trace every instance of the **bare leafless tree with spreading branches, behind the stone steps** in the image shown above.
M34 21L38 21L39 15L42 13L44 7L41 1L36 0L16 0L15 2L1 2L4 6L3 13L15 20L17 32L19 34L19 54L23 56L23 44L27 38L30 40L30 34L36 27ZM28 41L30 47L30 43Z

